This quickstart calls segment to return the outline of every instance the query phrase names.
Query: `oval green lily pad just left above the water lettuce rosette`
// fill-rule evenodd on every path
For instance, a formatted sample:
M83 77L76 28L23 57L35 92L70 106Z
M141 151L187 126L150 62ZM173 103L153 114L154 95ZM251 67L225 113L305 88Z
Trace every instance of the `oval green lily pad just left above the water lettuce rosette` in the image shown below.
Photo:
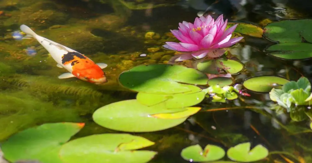
M266 93L272 88L281 89L280 85L288 82L289 80L278 76L256 76L245 80L243 85L251 91Z

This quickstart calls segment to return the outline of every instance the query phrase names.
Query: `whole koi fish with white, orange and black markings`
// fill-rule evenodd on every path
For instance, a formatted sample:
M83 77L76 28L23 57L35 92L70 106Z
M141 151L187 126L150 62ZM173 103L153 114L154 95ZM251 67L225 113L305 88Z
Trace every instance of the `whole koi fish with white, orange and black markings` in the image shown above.
M27 34L24 39L37 39L37 41L50 53L52 58L56 61L56 66L59 68L65 68L69 71L68 73L64 73L58 76L59 79L76 77L94 84L103 84L107 82L105 73L102 70L107 67L107 64L95 64L85 55L37 35L26 25L21 25L20 29Z

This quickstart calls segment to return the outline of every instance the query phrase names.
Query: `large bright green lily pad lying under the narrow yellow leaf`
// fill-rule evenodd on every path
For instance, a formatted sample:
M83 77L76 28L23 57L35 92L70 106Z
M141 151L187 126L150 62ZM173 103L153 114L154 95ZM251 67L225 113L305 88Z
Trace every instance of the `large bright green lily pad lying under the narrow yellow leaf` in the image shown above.
M167 109L165 103L148 107L137 100L125 100L111 103L97 109L93 120L100 126L124 132L152 132L177 126L188 116L178 119L155 118L161 113L179 113L186 108Z

